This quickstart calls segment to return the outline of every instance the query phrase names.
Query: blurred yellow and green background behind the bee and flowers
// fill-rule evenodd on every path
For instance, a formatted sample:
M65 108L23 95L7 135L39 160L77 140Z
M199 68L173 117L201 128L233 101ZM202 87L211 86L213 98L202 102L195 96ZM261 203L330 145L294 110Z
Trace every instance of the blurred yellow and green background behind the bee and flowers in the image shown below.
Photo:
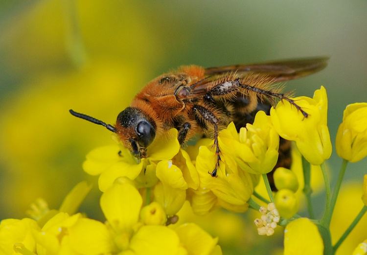
M366 0L0 1L0 219L24 217L37 197L57 208L73 185L95 182L81 164L110 133L70 108L114 123L146 82L184 64L330 56L287 89L326 87L334 139L344 107L367 101L366 27ZM366 162L346 179L362 185ZM333 155L331 168L340 163ZM100 218L93 192L82 210Z

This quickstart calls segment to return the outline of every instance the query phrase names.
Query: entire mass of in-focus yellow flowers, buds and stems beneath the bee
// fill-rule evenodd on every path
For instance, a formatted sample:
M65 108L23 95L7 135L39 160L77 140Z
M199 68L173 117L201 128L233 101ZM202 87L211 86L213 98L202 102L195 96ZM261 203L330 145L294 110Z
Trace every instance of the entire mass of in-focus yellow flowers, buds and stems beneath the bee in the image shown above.
M253 124L247 124L239 133L233 123L220 131L222 155L217 178L208 174L216 163L213 140L200 139L183 149L176 129L155 139L144 159L138 160L118 142L92 150L83 169L90 175L99 175L98 186L103 192L100 206L107 221L102 223L76 213L90 190L90 186L81 183L59 210L49 210L39 203L30 213L33 219L1 221L0 254L222 254L218 238L193 223L175 224L185 201L199 215L220 207L234 212L244 212L249 207L259 210L261 219L255 220L259 234L272 235L278 225L286 226L286 255L333 254L345 238L332 246L328 229L346 162L367 156L367 103L349 105L344 111L336 142L344 170L331 197L324 166L332 152L326 91L321 87L313 98L301 96L294 100L307 111L307 118L284 101L271 109L270 116L258 112ZM277 168L275 197L270 188L267 173L278 160L279 136L295 141L303 156L303 190L310 219L296 214L299 184L293 171ZM311 196L307 193L311 164L321 165L325 179L326 206L321 220L313 217ZM261 176L269 200L254 192ZM254 197L265 202L267 209L260 207ZM355 224L367 211L367 175L363 202L365 206Z

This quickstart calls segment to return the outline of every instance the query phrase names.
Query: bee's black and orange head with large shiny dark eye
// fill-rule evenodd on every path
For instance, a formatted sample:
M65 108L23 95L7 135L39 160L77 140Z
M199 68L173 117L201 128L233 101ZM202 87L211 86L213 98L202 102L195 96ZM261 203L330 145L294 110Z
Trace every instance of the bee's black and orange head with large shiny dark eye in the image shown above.
M119 113L115 128L124 145L141 157L145 157L146 147L156 137L154 121L134 107L128 107Z

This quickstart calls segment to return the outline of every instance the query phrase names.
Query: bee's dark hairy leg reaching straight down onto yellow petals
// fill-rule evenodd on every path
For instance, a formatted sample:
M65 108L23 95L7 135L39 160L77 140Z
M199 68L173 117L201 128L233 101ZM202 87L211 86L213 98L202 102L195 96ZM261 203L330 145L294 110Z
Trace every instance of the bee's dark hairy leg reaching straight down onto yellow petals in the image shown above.
M217 170L219 168L219 163L221 161L220 156L220 149L219 149L219 143L218 143L218 118L214 116L212 112L210 112L208 109L206 109L203 106L200 105L194 105L193 107L194 112L196 113L196 116L199 118L202 118L204 121L209 122L214 127L214 146L215 146L215 155L216 155L216 162L215 167L211 172L208 172L212 177L217 177Z

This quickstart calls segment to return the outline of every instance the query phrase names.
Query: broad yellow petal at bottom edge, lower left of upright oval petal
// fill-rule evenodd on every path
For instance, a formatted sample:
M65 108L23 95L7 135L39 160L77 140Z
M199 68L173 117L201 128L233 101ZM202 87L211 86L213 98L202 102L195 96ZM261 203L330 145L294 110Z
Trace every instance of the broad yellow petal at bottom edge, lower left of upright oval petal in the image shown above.
M92 219L80 219L69 229L69 238L72 249L80 254L109 254L114 248L107 227Z

